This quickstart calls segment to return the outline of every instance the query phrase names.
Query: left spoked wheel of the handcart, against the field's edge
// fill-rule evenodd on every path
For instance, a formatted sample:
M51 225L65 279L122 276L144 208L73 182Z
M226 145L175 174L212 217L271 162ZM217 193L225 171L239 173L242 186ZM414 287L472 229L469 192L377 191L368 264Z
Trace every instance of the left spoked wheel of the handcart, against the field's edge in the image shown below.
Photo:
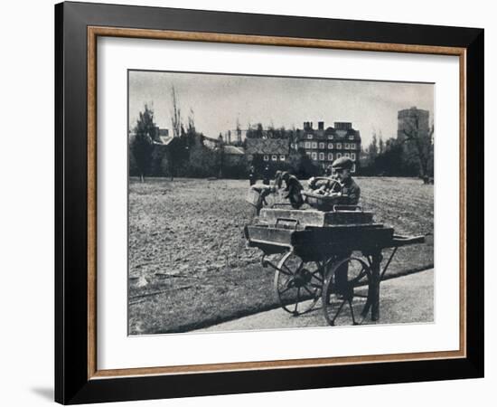
M288 251L277 264L275 293L286 312L295 316L309 312L321 298L324 284L324 264L304 261Z

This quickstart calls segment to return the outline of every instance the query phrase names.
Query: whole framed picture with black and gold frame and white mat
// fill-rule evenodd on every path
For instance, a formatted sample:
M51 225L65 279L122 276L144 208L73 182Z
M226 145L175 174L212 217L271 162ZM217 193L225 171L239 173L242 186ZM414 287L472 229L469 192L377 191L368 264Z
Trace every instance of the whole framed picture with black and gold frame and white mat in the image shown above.
M55 6L55 399L483 377L483 30Z

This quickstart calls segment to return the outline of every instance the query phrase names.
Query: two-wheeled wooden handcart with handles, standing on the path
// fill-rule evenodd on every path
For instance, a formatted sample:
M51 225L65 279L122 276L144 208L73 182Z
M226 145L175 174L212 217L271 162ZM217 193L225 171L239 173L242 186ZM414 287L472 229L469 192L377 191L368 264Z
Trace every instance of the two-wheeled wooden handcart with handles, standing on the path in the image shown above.
M326 197L312 196L330 206ZM283 309L295 316L321 300L329 325L359 325L380 317L380 282L399 247L424 236L400 236L373 222L360 206L331 210L267 208L245 226L248 246L263 251L262 265L275 270L274 290ZM392 248L381 268L382 251ZM274 259L277 260L274 260ZM279 260L278 260L279 259Z

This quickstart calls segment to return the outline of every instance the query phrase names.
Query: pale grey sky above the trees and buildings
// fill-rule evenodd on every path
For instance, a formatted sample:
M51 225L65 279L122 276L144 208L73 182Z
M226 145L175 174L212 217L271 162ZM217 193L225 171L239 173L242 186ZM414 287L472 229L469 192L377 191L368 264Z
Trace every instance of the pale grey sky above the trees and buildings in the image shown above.
M416 106L433 121L434 85L414 82L335 80L191 72L129 71L129 125L136 125L145 103L155 123L171 128L174 87L183 121L193 113L195 127L208 137L262 123L264 128L324 127L350 121L367 147L373 132L397 137L397 112ZM192 113L191 113L192 111Z

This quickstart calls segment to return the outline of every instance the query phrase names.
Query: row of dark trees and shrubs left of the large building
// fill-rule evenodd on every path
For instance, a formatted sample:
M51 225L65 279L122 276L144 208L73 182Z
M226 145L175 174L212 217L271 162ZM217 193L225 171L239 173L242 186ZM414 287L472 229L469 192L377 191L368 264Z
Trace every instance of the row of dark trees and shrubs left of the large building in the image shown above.
M204 145L205 137L196 130L192 115L186 127L182 125L180 115L181 111L176 109L173 122L178 124L177 130L173 130L174 136L169 143L163 145L156 136L154 111L145 105L136 121L134 136L129 140L129 175L139 176L143 182L145 175L246 178L254 169L262 177L266 168L271 176L277 170L290 171L303 178L323 172L303 148L292 149L285 162L266 162L262 156L256 156L250 163L246 156L230 160L222 145L215 149Z

